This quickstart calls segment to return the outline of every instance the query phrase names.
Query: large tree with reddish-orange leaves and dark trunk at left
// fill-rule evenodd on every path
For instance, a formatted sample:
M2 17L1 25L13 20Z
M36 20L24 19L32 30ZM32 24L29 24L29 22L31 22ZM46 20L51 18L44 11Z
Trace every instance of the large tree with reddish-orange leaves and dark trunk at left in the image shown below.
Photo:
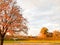
M27 34L27 20L20 14L15 0L0 0L0 45L3 45L7 30Z

